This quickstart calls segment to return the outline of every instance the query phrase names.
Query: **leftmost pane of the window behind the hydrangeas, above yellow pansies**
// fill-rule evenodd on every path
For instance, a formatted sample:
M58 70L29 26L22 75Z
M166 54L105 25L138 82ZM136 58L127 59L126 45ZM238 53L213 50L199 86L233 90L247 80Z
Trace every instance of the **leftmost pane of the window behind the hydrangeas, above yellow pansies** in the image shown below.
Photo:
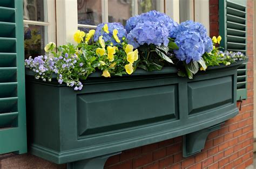
M101 0L77 0L78 24L98 25L102 23Z

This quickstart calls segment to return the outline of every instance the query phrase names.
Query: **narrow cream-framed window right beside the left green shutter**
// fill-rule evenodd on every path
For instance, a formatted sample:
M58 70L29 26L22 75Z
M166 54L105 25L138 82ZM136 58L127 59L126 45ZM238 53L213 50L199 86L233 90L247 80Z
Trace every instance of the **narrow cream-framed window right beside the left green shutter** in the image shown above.
M23 9L25 58L37 57L46 43L55 41L55 1L24 0Z

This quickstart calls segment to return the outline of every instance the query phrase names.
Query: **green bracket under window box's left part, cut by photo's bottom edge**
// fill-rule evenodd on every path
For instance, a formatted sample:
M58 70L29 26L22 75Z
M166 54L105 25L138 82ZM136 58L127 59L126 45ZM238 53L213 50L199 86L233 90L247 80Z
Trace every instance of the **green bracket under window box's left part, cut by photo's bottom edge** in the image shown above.
M75 161L72 163L67 164L67 169L87 169L87 168L97 168L97 169L103 169L104 165L106 163L106 160L114 155L120 154L122 152L116 152L116 153L111 153L111 154L106 154L104 156L99 156L95 158L90 158L90 159L84 159L84 160L79 160Z

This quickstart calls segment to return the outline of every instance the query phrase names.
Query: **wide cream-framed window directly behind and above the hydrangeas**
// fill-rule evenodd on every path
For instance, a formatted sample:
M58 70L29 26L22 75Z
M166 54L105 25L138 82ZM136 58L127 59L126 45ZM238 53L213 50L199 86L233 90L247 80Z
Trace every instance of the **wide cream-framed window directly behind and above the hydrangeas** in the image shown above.
M85 32L100 23L120 22L150 10L164 12L161 0L77 0L78 28Z

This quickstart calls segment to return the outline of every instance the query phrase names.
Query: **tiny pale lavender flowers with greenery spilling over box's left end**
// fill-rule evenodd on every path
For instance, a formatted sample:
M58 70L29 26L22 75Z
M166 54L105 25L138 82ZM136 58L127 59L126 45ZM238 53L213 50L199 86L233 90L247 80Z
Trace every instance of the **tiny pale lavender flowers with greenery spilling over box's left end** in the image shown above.
M75 72L79 75L84 75L86 71L83 67L83 62L79 60L76 54L69 56L66 53L58 58L50 58L46 55L38 56L34 59L29 57L29 59L25 60L25 66L36 73L36 79L51 81L52 75L57 74L59 84L65 82L67 86L74 87L74 90L81 90L83 88L82 83L76 78Z

